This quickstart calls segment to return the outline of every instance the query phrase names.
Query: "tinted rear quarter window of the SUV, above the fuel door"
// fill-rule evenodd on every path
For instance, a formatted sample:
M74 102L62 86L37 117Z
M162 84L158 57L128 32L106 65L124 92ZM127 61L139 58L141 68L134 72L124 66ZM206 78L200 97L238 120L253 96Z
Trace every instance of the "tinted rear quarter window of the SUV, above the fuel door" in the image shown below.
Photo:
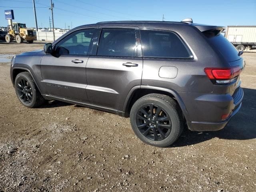
M144 57L189 58L190 54L173 32L140 30Z

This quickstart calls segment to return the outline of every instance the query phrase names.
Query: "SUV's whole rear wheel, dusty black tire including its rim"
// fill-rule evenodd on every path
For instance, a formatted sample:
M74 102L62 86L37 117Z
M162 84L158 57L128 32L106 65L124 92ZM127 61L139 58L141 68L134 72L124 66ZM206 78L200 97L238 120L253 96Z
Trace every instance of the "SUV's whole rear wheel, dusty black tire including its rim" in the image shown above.
M162 94L148 94L138 99L132 106L130 122L140 140L157 147L173 144L184 128L180 106Z

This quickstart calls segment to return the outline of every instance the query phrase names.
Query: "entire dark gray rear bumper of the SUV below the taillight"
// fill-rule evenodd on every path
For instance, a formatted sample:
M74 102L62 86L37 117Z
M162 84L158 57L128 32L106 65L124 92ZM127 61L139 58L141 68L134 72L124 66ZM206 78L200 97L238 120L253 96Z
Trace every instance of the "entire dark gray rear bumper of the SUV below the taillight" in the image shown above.
M244 92L238 88L230 94L186 94L183 99L190 115L187 120L188 128L192 131L216 131L226 126L242 105ZM225 120L224 114L230 114Z

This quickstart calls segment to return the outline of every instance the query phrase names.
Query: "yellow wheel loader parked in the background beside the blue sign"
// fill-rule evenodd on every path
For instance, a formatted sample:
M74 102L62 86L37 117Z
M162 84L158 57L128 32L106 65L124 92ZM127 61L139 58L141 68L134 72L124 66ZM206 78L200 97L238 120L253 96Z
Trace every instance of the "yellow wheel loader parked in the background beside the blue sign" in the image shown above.
M33 43L36 39L32 30L26 28L26 24L12 23L12 26L8 26L8 34L5 36L6 42L10 43L16 40L17 43L22 43L26 40L28 43Z

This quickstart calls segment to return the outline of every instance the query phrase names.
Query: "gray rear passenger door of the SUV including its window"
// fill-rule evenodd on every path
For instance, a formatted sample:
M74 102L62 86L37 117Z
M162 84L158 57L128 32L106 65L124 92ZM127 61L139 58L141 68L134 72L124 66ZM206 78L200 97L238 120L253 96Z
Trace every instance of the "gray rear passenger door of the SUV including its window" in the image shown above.
M86 65L90 103L121 111L128 92L141 84L142 65L137 27L102 28L97 55Z

